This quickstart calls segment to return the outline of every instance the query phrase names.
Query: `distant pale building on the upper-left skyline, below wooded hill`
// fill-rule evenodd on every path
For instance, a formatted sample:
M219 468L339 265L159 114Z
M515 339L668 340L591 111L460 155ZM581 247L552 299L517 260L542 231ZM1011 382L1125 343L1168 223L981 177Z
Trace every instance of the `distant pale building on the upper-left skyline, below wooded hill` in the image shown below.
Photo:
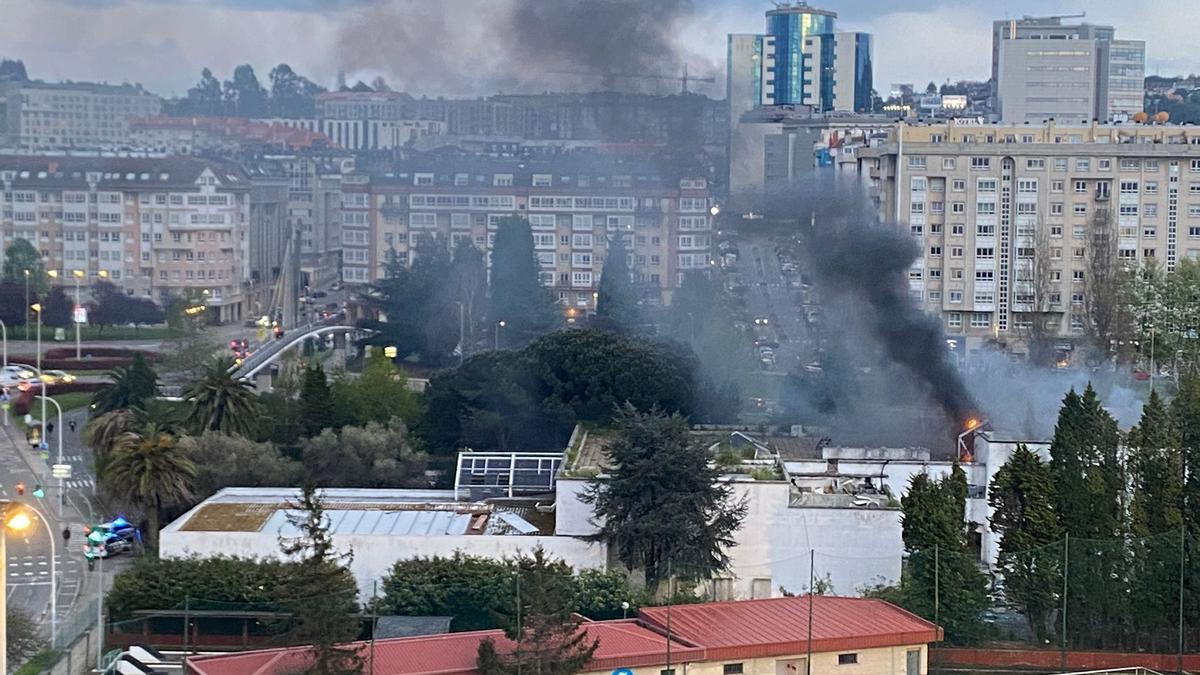
M28 150L122 148L132 120L162 112L161 98L130 84L8 82L0 97L0 145Z

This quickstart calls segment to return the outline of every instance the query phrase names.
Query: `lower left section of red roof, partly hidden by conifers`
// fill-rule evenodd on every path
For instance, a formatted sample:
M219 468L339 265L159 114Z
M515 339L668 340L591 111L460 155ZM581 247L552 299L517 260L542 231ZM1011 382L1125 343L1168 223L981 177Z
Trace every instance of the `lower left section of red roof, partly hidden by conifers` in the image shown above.
M666 653L666 638L641 626L635 620L598 621L584 625L590 638L598 638L600 646L593 656L589 670L613 670L658 665ZM474 631L448 633L419 638L378 640L374 646L376 675L476 675L475 653L485 639L496 640L502 653L509 653L514 644L500 631ZM698 661L704 650L685 640L671 640L672 659ZM370 658L370 646L359 643L364 658ZM284 647L233 655L191 658L187 673L193 675L276 675L302 670L310 659L310 650Z

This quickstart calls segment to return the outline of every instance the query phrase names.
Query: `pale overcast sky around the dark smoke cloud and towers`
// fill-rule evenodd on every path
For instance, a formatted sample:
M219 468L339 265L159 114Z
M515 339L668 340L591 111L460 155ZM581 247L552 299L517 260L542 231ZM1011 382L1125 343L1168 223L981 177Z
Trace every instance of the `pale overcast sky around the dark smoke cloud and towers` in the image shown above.
M229 77L248 62L259 78L278 62L330 86L340 70L354 78L383 74L414 94L480 95L520 82L487 79L487 62L514 70L486 49L490 14L505 0L0 0L0 55L24 59L32 77L140 82L162 95L184 94L202 67ZM518 2L523 0L508 0ZM542 0L595 2L607 0ZM644 0L658 11L679 7L674 48L688 53L692 73L715 71L724 86L725 35L760 32L763 0ZM1147 42L1147 73L1200 72L1194 30L1196 0L827 0L840 30L875 35L876 88L946 79L986 79L992 19L1025 13L1078 13L1112 24L1117 37ZM1147 11L1150 7L1152 11ZM414 10L420 7L419 10ZM406 20L413 11L445 7L449 16ZM475 11L478 10L478 12ZM653 13L653 12L650 12ZM416 28L413 28L416 26ZM360 38L371 34L370 38ZM571 36L565 36L570 40ZM402 48L397 47L403 42ZM427 62L418 55L434 55ZM448 64L469 64L445 73ZM402 62L401 62L402 61ZM542 67L553 67L542 66ZM518 68L520 70L520 68ZM433 71L433 72L430 72ZM474 74L475 77L472 77ZM494 74L494 73L493 73ZM494 76L499 77L499 76ZM562 76L559 76L562 77ZM440 84L440 86L438 86ZM553 86L551 84L550 86ZM670 86L670 85L668 85Z

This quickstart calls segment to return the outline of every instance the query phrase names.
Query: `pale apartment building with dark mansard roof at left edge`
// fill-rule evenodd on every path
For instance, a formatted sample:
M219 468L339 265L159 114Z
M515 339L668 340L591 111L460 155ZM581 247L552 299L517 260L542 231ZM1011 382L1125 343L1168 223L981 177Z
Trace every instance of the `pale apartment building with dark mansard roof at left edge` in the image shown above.
M250 181L235 166L169 157L0 156L4 247L25 239L48 270L126 293L203 295L241 318ZM0 251L2 253L2 251Z

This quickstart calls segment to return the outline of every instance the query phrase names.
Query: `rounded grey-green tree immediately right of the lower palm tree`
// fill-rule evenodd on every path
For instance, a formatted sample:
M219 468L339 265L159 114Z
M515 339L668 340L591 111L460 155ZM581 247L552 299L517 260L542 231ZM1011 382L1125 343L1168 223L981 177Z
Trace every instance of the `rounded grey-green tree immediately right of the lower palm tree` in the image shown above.
M192 496L197 501L222 488L295 485L304 474L301 464L275 446L241 436L209 431L180 438L179 448L196 466Z

